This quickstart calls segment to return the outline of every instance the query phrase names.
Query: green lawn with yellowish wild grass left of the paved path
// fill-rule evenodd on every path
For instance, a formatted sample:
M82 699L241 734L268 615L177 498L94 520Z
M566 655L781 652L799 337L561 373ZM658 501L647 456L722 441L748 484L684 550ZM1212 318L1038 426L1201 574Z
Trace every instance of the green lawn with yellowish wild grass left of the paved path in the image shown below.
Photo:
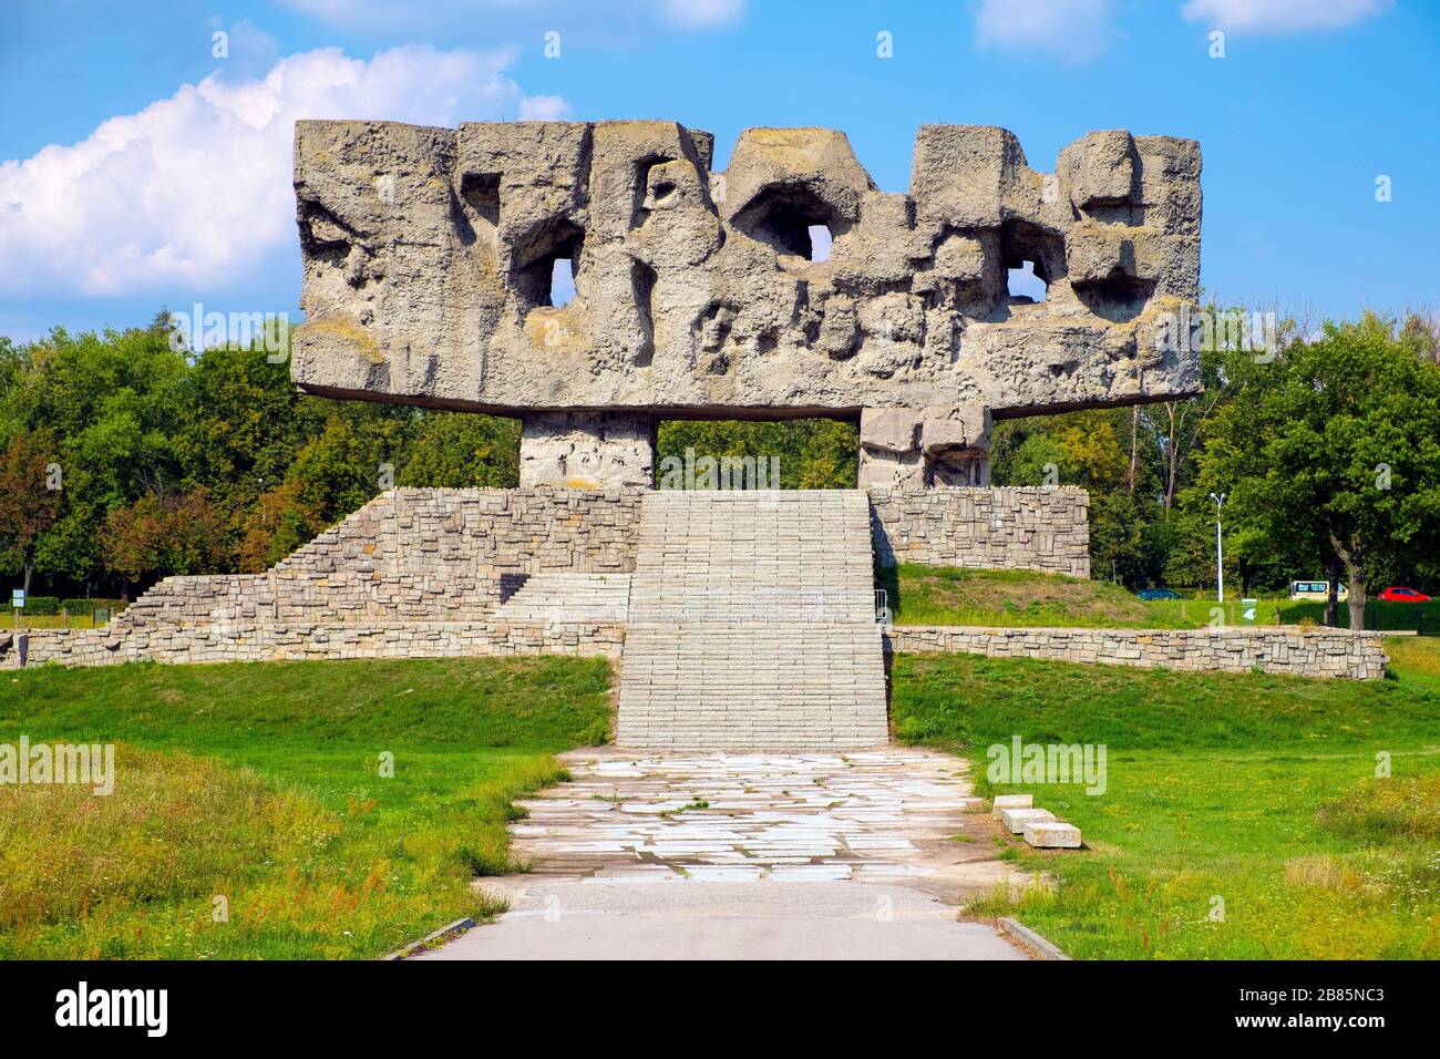
M469 882L516 867L511 800L606 736L609 680L556 657L6 674L0 743L118 759L109 797L0 787L0 957L374 957L492 915Z

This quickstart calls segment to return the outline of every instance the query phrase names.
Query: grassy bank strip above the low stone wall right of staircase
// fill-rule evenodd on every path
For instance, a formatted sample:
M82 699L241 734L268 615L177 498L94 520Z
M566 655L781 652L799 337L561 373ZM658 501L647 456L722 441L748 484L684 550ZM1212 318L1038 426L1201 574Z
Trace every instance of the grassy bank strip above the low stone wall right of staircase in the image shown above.
M900 563L876 571L897 625L1022 625L1083 628L1201 628L1217 618L1241 621L1240 599L1227 592L1211 599L1138 599L1122 585L1035 571L972 571L959 566ZM1218 612L1217 612L1218 608ZM1322 602L1261 598L1254 624L1319 622ZM1342 604L1339 622L1349 621ZM1440 602L1392 604L1371 599L1367 625L1377 630L1421 628L1440 635Z

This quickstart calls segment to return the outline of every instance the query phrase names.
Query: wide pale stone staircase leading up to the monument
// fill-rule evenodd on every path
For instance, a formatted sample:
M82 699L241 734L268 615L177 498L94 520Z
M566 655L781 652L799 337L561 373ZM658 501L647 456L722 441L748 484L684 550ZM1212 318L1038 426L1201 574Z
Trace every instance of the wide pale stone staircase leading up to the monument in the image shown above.
M648 494L631 578L619 743L884 743L873 588L863 491Z

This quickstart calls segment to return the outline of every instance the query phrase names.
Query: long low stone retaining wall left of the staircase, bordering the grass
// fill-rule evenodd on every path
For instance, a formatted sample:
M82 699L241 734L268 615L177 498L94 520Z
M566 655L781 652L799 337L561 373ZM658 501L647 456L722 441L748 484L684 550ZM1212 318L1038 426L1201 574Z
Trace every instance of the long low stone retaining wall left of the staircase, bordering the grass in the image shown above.
M461 658L576 654L618 658L619 622L415 621L180 624L137 630L32 630L0 653L0 670L114 666L127 661L204 663L295 658Z

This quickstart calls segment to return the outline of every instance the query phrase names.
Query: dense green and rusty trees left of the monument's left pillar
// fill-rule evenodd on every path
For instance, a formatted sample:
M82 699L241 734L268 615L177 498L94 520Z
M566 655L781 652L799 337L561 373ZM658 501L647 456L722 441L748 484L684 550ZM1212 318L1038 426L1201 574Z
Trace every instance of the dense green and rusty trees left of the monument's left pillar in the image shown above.
M389 486L514 486L518 424L301 396L264 350L150 327L0 339L0 569L131 598L258 572ZM276 360L279 363L276 363Z

